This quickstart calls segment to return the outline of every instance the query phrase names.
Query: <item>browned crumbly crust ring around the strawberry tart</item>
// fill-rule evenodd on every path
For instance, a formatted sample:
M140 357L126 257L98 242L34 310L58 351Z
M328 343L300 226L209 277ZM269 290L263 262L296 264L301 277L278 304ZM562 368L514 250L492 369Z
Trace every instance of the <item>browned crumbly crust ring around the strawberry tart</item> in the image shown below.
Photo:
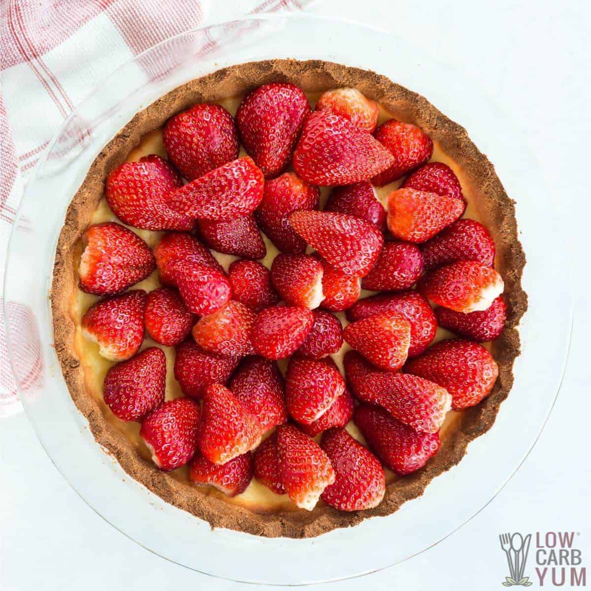
M307 92L353 86L397 113L403 121L423 128L465 171L470 191L478 197L479 215L495 239L497 264L505 280L508 322L493 345L499 378L492 394L477 407L464 411L456 429L444 438L439 453L423 469L391 483L384 502L369 511L340 512L320 503L311 512L301 510L261 515L215 496L204 495L200 488L179 482L140 457L124 434L106 421L98 403L87 392L82 366L74 350L76 327L69 313L69 302L77 287L74 248L102 197L106 176L125 160L143 135L159 128L174 113L193 103L241 95L269 82L293 82ZM334 528L356 525L367 517L396 511L408 499L422 495L431 479L462 459L471 440L492 427L499 406L513 384L512 366L519 355L517 324L527 309L527 296L521 288L524 264L514 202L505 193L493 165L470 141L462 126L450 121L423 96L374 72L326 61L267 60L245 63L191 80L169 92L135 115L100 152L67 210L57 245L51 291L55 347L72 399L89 421L96 441L116 457L132 478L139 480L164 501L206 519L212 527L226 527L268 537L313 537Z

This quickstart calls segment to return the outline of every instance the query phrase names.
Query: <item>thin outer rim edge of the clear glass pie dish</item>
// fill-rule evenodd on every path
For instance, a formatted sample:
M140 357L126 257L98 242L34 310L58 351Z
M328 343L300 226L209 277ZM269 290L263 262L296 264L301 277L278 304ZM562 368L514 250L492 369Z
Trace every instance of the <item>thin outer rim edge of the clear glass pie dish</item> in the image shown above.
M368 31L376 31L376 32L380 32L380 33L389 33L388 30L381 28L381 27L374 27L372 25L366 25L363 24L361 22L355 21L355 20L351 20L351 19L347 19L347 18L340 18L340 17L327 17L327 16L323 16L323 15L310 15L310 14L269 14L269 15L252 15L249 17L245 17L245 18L241 18L241 19L237 19L237 20L232 20L232 21L226 21L226 22L220 22L220 23L216 23L216 24L212 24L212 25L206 25L203 27L197 27L197 28L193 28L187 31L183 31L183 33L178 33L177 35L174 35L173 37L167 38L164 41L161 41L161 43L156 44L155 46L152 46L151 48L148 48L147 50L143 51L142 53L138 54L135 57L132 57L132 59L126 61L125 63L121 64L120 66L118 66L115 70L113 70L108 76L106 76L104 79L100 80L100 82L95 85L93 87L92 90L90 90L89 93L87 93L87 95L85 96L85 98L80 101L80 103L76 106L76 108L72 111L72 113L70 113L70 115L64 120L63 124L60 126L59 131L57 132L57 134L54 136L54 138L50 141L50 143L48 144L47 148L44 150L43 155L41 155L37 165L35 166L35 170L34 173L31 175L30 179L28 180L27 184L33 184L39 175L40 170L42 170L44 164L46 163L48 154L51 153L51 150L53 150L54 145L56 144L57 140L59 139L61 133L63 132L64 129L67 128L67 126L70 124L70 122L72 121L72 119L76 116L79 108L81 105L83 105L84 103L86 103L90 98L92 98L92 96L94 96L97 92L98 89L101 85L105 84L109 79L111 79L113 76L115 76L118 72L120 72L121 70L125 69L125 67L128 67L129 64L138 61L139 59L141 59L141 57L146 56L147 54L152 53L153 51L156 51L158 48L165 46L166 44L170 43L171 41L173 41L174 39L177 38L181 38L181 37L185 37L191 34L196 34L199 33L200 31L206 31L206 30L212 30L212 29L216 29L216 28L221 28L221 27L225 27L228 25L232 25L232 24L241 24L243 22L248 22L248 21L259 21L259 22L265 22L265 21L274 21L274 20L301 20L301 21L326 21L326 22L340 22L343 24L350 24L350 25L354 25L355 27L359 27L359 28L364 28ZM296 57L297 59L297 57ZM239 63L240 60L237 60L236 63ZM434 60L435 61L435 60ZM14 223L12 225L11 228L11 234L9 237L9 242L8 242L8 247L7 247L7 252L10 255L11 253L11 246L12 246L12 242L15 236L15 228L17 228L17 223L18 220L21 217L21 213L22 213L22 208L24 206L24 200L25 200L25 196L23 197L23 199L21 200L21 203L19 204L18 208L17 208L17 213L15 215L15 220ZM567 274L570 273L570 261L566 260L564 261L564 264L566 265L567 268ZM4 288L3 288L3 297L4 297L4 302L5 305L7 303L7 285L8 285L8 269L9 269L9 265L6 265L5 271L4 271ZM554 408L554 405L556 404L556 400L558 397L558 394L560 392L561 386L563 384L563 380L564 380L564 375L566 372L566 367L567 367L567 361L569 359L569 353L570 353L570 345L571 345L571 335L572 335L572 331L573 331L573 304L572 304L572 297L569 294L569 301L567 304L567 308L568 308L568 312L567 312L567 317L570 319L570 326L569 326L569 330L568 330L568 335L567 335L567 346L566 346L566 351L564 352L564 358L563 358L563 362L561 363L561 372L560 372L560 381L559 381L559 385L558 388L556 390L556 394L554 394L554 398L551 401L551 405L550 408L548 410L548 413L543 421L543 423L541 424L538 434L535 437L535 439L531 442L530 446L527 449L527 452L524 454L524 457L522 458L521 462L518 463L518 465L515 467L514 470L512 470L512 472L506 477L506 479L504 480L504 482L502 482L502 484L499 486L498 489L496 489L496 491L493 493L493 495L491 496L491 498L484 504L482 505L482 507L480 507L480 509L478 509L478 511L476 511L474 514L472 514L469 518L465 519L464 521L462 521L459 525L457 525L457 527L455 527L452 531L448 532L446 535L443 535L443 537L441 537L439 540L435 541L434 543L427 545L426 547L424 547L422 550L415 552L414 554L412 554L411 556L407 556L405 558L403 558L402 560L396 560L391 564L387 564L385 566L381 566L377 569L372 569L372 570L367 570L363 573L359 573L359 574L354 574L352 576L345 576L345 577L336 577L333 579L327 579L326 581L323 582L337 582L339 580L348 580L348 579L355 579L355 578L359 578L359 577L363 577L366 574L372 574L372 573L377 573L379 571L388 569L392 566L395 566L396 564L400 564L402 562L405 562L407 560L409 560L410 558L413 558L415 556L417 556L418 554L422 554L424 553L424 551L429 550L430 548L433 548L434 546L436 546L437 544L441 543L441 541L446 540L446 538L448 538L450 535L454 534L454 532L456 532L457 530L459 530L460 528L462 528L464 525L466 525L467 522L471 521L474 517L476 517L476 515L478 515L486 506L488 506L493 499L496 498L496 496L499 494L499 492L501 492L506 484L509 482L509 480L512 479L512 477L515 475L515 473L517 473L517 471L519 470L519 468L523 465L523 463L525 462L525 459L527 459L527 457L529 456L529 454L531 453L531 450L534 448L535 444L537 443L538 439L540 439L541 434L543 433L544 427L547 424L548 418L550 418L550 414ZM7 346L8 346L8 358L9 358L9 362L11 363L11 369L13 371L13 373L15 375L17 375L17 372L15 372L15 361L14 361L14 353L13 353L13 344L12 344L12 340L10 337L10 332L8 330L8 319L7 319L7 315L4 314L4 324L5 324L5 333L7 335ZM118 530L119 532L121 532L123 535L125 535L125 537L129 538L130 540L134 541L134 543L137 543L138 545L140 545L141 547L145 548L146 550L150 551L152 554L155 554L156 556L159 556L161 558L164 558L165 560L173 563L173 564L178 564L179 566L185 567L187 569L196 571L200 574L205 574L207 576L213 577L215 579L221 579L221 580L229 580L232 582L236 582L236 583L249 583L249 584L268 584L269 586L307 586L309 584L316 584L316 583L291 583L291 584L284 584L284 583L258 583L258 582L253 582L251 580L243 580L243 579L234 579L234 578L230 578L230 577L224 577L224 576L219 576L217 574L214 573L208 573L207 571L204 570L200 570L197 569L193 566L189 566L187 564L183 564L179 561L174 560L173 558L164 556L163 554L159 553L156 550L153 550L150 547L147 547L146 545L142 544L141 542L139 542L138 540L136 540L134 537L132 537L131 535L127 534L125 531L123 531L121 528L118 527L118 525L113 524L111 521L109 521L108 518L106 518L105 516L103 516L98 509L96 509L89 501L87 501L87 499L85 498L85 496L83 495L82 492L79 491L79 489L76 487L76 485L74 485L74 483L72 482L72 480L70 480L66 474L63 472L63 470L60 468L59 465L57 465L57 463L54 461L53 457L51 456L50 452L48 451L46 444L44 443L43 437L40 434L40 431L38 430L38 426L37 423L35 422L35 420L32 418L31 416L31 411L30 408L28 407L28 401L27 401L27 397L22 395L22 392L20 390L20 385L17 384L17 388L21 394L21 401L22 401L22 405L24 407L25 413L27 414L28 419L30 420L30 423L33 425L35 434L37 435L37 439L40 441L41 446L43 447L43 449L45 450L45 452L47 453L49 459L51 460L51 462L53 463L53 465L56 467L56 469L60 472L60 474L63 476L64 480L66 480L66 482L72 487L72 489L77 493L77 495L80 496L80 498L85 502L85 504L87 506L90 507L90 509L92 509L92 511L94 511L97 515L99 515L99 517L101 517L102 519L104 519L109 525L111 525L113 528L115 528L116 530Z

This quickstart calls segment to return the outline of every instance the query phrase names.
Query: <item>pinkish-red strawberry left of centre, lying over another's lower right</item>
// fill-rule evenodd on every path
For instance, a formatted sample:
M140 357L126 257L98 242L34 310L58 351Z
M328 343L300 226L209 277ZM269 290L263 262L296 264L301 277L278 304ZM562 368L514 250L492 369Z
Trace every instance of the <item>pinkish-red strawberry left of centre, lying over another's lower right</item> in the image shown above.
M187 308L194 314L213 314L232 297L232 286L222 272L198 262L176 262L173 277Z

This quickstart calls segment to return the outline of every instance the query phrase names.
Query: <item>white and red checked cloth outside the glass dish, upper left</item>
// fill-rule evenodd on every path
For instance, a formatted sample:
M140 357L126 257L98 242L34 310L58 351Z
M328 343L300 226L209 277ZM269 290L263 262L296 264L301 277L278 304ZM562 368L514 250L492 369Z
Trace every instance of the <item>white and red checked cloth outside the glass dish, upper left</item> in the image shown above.
M11 225L27 176L100 80L173 35L310 0L3 0L0 86L0 294ZM219 43L219 40L213 40ZM0 319L4 303L0 297ZM34 365L34 361L30 362ZM23 368L27 375L29 368ZM33 367L30 368L33 371ZM21 409L0 323L0 417Z

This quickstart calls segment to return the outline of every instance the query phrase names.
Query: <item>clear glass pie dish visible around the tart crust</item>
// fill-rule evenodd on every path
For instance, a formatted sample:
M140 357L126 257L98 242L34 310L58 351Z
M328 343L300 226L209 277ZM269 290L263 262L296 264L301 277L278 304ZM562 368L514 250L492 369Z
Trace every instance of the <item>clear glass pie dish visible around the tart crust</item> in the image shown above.
M320 43L310 44L311 38ZM113 135L187 80L236 63L288 57L375 70L427 96L465 125L492 155L517 200L520 238L531 254L523 278L530 310L519 328L522 355L495 426L470 445L459 465L395 514L304 540L212 531L129 478L96 443L73 405L53 348L48 300L64 213ZM64 477L103 518L154 553L246 582L303 584L358 576L405 560L456 530L502 488L537 439L560 386L570 339L566 249L545 248L547 233L561 232L560 220L530 151L507 146L493 131L507 125L514 124L462 74L385 31L327 18L255 17L189 31L113 72L70 115L40 161L12 231L5 278L9 352L22 401ZM286 569L285 556L306 564L305 574Z

